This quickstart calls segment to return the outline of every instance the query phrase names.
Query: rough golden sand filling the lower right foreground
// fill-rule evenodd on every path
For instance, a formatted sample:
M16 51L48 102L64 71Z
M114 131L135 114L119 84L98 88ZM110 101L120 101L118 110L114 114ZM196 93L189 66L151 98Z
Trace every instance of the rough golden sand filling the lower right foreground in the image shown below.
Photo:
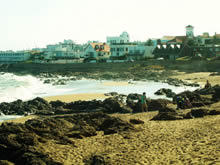
M141 119L139 131L73 139L75 146L49 141L44 150L64 165L86 164L101 155L113 165L220 164L220 116L178 121L150 121L157 112L114 114Z

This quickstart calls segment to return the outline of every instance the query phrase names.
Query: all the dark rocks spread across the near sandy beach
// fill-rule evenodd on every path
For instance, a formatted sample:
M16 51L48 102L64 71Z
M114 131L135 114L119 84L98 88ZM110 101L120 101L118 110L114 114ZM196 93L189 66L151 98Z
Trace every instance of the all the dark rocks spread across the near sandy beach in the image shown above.
M113 114L135 114L140 112L140 95L120 95L110 93L112 97L103 101L76 101L65 103L61 101L47 102L35 98L23 102L17 100L11 103L1 103L0 112L7 115L34 114L39 117L28 120L24 124L3 123L0 126L0 160L5 164L63 164L48 155L42 148L51 141L56 144L76 148L74 139L84 139L97 136L126 134L139 132L135 125L144 124L140 119L123 120ZM183 120L201 118L207 115L219 115L220 86L199 89L194 92L185 91L177 95L187 96L192 107L176 110L169 100L157 99L147 101L148 111L157 112L149 119L154 120ZM207 97L208 96L208 97ZM173 105L173 106L172 106ZM109 114L109 115L107 115ZM141 113L140 113L141 114ZM100 155L90 155L82 160L85 164L108 164L106 158Z

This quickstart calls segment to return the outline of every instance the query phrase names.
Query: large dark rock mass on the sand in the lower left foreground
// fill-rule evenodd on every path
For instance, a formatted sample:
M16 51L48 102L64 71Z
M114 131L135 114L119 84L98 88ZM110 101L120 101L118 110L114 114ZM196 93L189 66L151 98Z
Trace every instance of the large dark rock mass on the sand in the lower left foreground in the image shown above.
M75 146L74 138L84 138L135 130L132 124L104 113L75 114L38 118L25 124L3 123L0 126L0 160L15 164L58 165L42 149L53 140Z

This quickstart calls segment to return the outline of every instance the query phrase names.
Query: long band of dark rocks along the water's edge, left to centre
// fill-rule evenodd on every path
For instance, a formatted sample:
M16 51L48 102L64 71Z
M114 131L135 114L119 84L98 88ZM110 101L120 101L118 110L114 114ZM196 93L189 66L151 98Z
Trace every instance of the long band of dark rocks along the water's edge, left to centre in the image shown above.
M148 100L148 110L158 110L170 103L166 99ZM141 112L139 94L115 95L103 101L75 101L65 103L62 101L51 101L48 103L42 98L29 101L17 100L11 103L1 103L0 112L5 115L55 115L72 114L82 112L105 112L105 113L136 113Z

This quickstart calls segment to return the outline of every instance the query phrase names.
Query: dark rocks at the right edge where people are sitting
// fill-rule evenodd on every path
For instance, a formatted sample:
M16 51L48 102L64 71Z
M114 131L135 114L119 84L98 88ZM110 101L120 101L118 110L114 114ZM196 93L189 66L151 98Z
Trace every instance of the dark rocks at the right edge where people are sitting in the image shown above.
M204 97L204 95L210 95L211 97ZM191 119L195 117L204 117L206 115L218 115L220 110L210 109L207 106L216 103L220 100L220 86L216 85L208 89L199 89L194 92L184 91L179 96L186 96L191 106L183 108L190 108L190 111L184 112L173 108L163 107L158 109L159 112L151 120L180 120ZM200 108L201 107L201 108Z

